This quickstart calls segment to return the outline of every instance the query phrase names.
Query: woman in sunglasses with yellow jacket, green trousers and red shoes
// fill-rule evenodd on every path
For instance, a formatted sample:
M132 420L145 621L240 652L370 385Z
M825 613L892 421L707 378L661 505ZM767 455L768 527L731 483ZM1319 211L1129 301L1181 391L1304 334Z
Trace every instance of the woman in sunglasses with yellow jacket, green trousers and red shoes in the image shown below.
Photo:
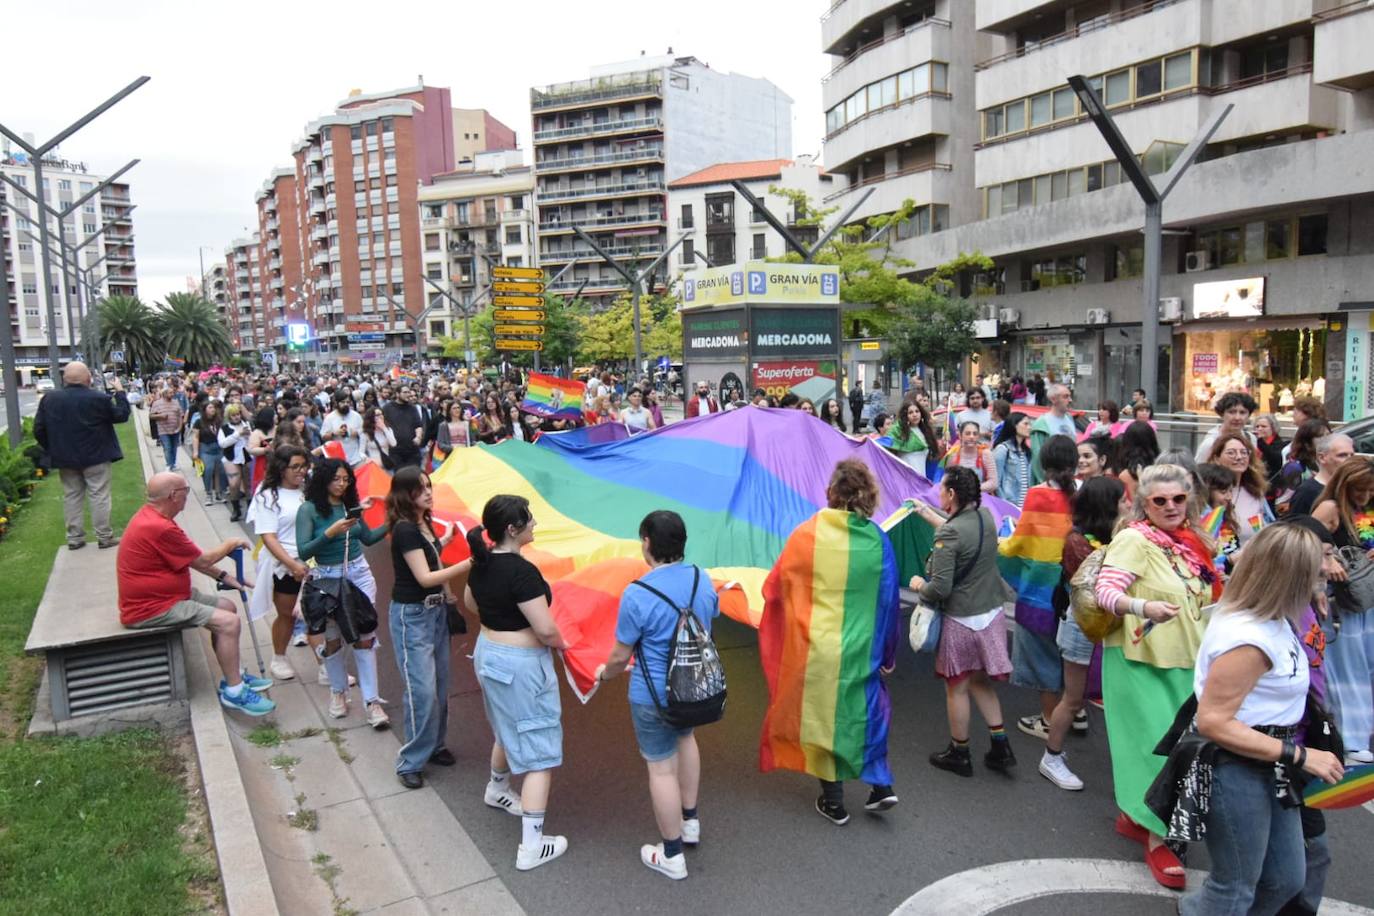
M1145 846L1145 862L1165 887L1182 890L1179 849L1145 803L1164 765L1154 746L1193 694L1202 644L1202 607L1221 595L1212 545L1198 527L1193 475L1172 464L1140 471L1128 523L1098 575L1096 599L1123 618L1102 644L1102 699L1120 809L1116 829Z

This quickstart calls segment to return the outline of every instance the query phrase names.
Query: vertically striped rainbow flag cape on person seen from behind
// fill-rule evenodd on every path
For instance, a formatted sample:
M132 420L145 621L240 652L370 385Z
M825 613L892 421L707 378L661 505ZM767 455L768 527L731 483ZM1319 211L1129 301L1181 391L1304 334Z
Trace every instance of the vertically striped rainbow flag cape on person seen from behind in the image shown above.
M892 542L868 519L820 509L791 533L758 625L769 695L761 770L892 784L892 706L878 669L897 658L897 595Z

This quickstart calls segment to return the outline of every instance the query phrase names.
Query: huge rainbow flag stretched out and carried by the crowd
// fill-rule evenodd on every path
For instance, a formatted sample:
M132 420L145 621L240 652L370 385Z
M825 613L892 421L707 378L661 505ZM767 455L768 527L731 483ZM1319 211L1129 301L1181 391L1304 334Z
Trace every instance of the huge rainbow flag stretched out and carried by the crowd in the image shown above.
M589 691L596 665L613 645L620 595L644 571L639 522L673 509L687 522L687 562L701 566L721 595L721 611L749 626L763 615L763 584L797 526L826 505L826 485L841 459L872 468L881 489L875 519L892 520L893 542L930 542L929 526L904 500L936 504L936 486L871 441L855 441L800 411L742 408L606 441L602 427L550 433L536 444L506 441L453 449L433 475L436 518L466 529L497 493L530 501L534 542L528 556L554 589L552 611L572 648L565 663ZM359 474L363 496L385 497L379 467ZM1017 509L984 497L999 523ZM381 500L367 516L382 520ZM912 529L925 529L914 531ZM929 549L929 547L926 547ZM456 538L445 563L467 555ZM899 556L903 570L923 558Z

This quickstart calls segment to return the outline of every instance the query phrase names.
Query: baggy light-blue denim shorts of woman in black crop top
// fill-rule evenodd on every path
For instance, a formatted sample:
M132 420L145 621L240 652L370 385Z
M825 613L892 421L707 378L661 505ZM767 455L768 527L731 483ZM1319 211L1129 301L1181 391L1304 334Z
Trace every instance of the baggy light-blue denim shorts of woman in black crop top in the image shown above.
M486 721L506 748L513 773L552 769L563 762L563 707L554 655L477 637L473 667L482 685Z

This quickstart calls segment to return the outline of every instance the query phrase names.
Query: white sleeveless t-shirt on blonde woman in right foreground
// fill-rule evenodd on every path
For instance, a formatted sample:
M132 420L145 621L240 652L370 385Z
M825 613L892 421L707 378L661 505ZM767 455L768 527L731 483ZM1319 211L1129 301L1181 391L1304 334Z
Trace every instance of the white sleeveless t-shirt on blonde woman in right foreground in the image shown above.
M1283 619L1261 621L1245 611L1213 614L1193 669L1193 692L1202 696L1212 662L1241 645L1264 652L1270 669L1241 700L1235 717L1246 725L1300 722L1307 709L1308 662L1297 633Z

